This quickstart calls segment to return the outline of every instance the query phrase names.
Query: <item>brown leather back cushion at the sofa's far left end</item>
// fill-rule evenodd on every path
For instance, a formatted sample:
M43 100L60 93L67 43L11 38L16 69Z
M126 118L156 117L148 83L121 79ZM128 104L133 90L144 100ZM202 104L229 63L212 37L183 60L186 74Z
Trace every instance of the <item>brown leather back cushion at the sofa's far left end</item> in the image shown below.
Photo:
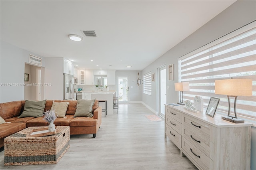
M19 116L22 111L22 101L11 101L0 104L0 116L4 120Z

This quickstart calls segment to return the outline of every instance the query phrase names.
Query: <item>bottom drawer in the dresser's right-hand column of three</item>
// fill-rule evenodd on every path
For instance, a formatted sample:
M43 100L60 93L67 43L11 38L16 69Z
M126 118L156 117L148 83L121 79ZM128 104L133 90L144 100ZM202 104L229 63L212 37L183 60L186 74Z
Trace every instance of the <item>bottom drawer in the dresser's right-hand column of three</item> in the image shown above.
M204 170L210 169L211 159L206 154L204 154L201 150L199 150L196 146L188 142L188 140L186 140L185 138L182 138L182 150L185 151L183 153L189 159L192 158Z

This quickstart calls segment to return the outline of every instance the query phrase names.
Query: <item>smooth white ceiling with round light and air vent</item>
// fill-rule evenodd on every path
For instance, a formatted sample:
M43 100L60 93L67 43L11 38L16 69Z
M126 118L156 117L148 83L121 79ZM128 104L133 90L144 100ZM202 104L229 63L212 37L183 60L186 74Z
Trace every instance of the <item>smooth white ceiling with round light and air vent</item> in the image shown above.
M234 2L1 0L1 40L80 69L142 70Z

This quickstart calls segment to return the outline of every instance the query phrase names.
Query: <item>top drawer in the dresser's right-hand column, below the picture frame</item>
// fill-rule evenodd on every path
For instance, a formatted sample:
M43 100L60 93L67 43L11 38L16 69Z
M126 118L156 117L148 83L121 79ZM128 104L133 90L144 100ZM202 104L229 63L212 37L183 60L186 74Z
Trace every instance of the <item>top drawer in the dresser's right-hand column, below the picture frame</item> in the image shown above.
M196 130L196 133L199 133L199 131L202 131L205 134L209 134L208 136L209 136L209 140L210 140L210 125L209 124L199 121L198 119L190 117L186 114L183 114L182 125L187 125L189 128Z

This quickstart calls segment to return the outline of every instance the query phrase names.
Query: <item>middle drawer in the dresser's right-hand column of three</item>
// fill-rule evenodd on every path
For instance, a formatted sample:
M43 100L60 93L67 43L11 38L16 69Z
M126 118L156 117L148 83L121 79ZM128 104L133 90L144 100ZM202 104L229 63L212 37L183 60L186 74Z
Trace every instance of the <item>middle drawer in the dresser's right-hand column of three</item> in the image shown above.
M188 125L183 126L182 137L186 138L188 142L194 144L197 148L200 148L204 154L210 157L210 134L206 134L194 127Z

